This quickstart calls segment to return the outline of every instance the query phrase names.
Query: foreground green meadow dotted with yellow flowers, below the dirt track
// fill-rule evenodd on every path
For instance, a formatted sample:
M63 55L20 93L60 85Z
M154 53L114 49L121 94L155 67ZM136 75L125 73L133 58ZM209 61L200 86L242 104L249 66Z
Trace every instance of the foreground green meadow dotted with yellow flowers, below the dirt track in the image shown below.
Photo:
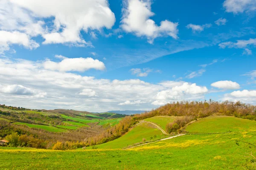
M245 170L252 166L246 153L256 148L256 132L184 135L131 150L36 150L0 147L0 169L36 170ZM248 161L247 161L248 160Z

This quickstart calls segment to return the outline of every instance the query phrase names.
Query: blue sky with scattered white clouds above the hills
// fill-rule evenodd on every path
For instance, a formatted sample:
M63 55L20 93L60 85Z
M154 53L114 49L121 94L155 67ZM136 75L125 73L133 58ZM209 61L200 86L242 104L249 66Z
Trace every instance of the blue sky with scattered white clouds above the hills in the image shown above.
M2 0L0 103L256 104L255 12L256 0Z

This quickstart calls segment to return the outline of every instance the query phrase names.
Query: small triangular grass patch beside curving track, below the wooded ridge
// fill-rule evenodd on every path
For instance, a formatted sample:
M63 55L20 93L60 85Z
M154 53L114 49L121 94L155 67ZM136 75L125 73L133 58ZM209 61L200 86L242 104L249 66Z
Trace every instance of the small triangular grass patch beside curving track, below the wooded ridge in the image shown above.
M145 121L150 121L160 126L163 130L166 130L166 124L173 122L177 116L154 116L152 118L146 118Z

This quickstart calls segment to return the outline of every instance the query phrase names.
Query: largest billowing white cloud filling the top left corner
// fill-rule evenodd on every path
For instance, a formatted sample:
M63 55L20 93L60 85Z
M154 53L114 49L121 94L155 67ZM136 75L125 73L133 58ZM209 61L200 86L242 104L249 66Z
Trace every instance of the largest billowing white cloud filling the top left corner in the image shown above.
M61 5L55 8L52 4ZM52 22L46 25L45 19ZM93 45L85 41L80 32L94 33L93 30L111 29L115 20L108 0L0 1L0 29L9 31L9 34L14 31L16 34L17 32L24 34L18 39L30 43L18 44L29 48L35 48L38 44L27 39L38 35L45 39L43 44L63 43L69 46L92 47ZM16 41L9 41L9 43L16 43ZM4 50L9 48L5 47Z

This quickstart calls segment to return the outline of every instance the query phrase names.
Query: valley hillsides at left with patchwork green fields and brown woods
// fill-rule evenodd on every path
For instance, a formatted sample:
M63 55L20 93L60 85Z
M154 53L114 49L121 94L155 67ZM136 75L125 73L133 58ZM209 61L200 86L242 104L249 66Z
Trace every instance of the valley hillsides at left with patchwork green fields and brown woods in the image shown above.
M115 113L93 114L68 109L37 110L0 105L0 140L16 132L23 135L23 146L49 148L57 141L70 141L75 147L83 147L87 145L84 139L115 126L124 117Z

